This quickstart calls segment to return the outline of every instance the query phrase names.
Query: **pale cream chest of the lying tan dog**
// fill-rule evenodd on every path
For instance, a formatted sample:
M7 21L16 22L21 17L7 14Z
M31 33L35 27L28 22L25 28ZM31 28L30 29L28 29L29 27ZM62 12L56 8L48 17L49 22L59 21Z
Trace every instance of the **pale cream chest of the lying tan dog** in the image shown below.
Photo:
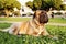
M33 30L33 33L41 34L44 31L43 25L36 25L34 22L30 23L31 30Z

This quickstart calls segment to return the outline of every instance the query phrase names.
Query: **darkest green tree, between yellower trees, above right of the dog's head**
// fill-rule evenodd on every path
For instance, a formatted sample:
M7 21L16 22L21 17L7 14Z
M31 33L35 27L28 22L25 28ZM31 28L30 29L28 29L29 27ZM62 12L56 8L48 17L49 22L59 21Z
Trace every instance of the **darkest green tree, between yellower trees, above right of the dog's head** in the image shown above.
M53 0L43 0L41 9L44 9L44 10L48 11L50 8L54 8L54 1Z

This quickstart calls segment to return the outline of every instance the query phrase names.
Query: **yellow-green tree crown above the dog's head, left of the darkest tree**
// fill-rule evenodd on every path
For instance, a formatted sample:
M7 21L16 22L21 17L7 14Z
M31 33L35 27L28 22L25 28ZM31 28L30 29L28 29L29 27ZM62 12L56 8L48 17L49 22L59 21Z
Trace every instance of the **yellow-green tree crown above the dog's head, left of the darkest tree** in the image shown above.
M33 2L29 1L26 2L26 6L30 7L32 10L41 9L42 1L41 0L34 0Z

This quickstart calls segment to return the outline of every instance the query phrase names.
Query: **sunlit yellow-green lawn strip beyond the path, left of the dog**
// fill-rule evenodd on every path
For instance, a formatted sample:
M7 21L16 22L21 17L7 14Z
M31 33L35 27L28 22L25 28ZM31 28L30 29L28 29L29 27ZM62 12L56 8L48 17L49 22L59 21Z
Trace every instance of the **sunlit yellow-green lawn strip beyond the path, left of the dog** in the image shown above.
M28 20L30 20L30 18L0 18L0 21L11 21L11 22L20 22Z

